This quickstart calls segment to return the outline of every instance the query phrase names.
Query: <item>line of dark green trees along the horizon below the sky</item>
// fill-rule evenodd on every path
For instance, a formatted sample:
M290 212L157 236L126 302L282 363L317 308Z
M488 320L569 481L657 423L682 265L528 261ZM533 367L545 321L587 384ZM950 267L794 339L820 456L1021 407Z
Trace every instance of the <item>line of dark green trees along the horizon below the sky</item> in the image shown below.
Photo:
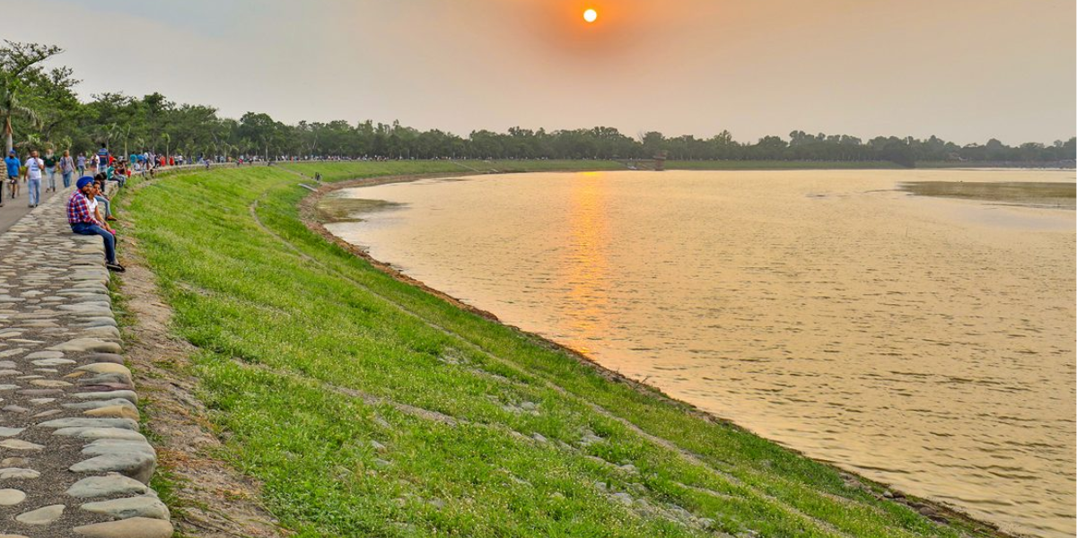
M957 145L937 137L876 137L793 131L738 142L729 131L700 139L651 131L630 137L612 127L546 131L514 127L508 132L477 130L466 138L401 125L338 119L286 125L268 114L248 112L239 119L221 117L204 104L179 104L154 93L141 98L122 93L94 95L82 102L79 81L68 67L45 69L41 62L61 49L5 41L0 47L0 115L9 147L86 152L108 144L127 154L150 150L191 158L261 156L263 158L332 156L390 159L618 159L651 158L666 152L676 160L827 160L969 161L1012 165L1072 164L1075 139L1018 146L992 139Z

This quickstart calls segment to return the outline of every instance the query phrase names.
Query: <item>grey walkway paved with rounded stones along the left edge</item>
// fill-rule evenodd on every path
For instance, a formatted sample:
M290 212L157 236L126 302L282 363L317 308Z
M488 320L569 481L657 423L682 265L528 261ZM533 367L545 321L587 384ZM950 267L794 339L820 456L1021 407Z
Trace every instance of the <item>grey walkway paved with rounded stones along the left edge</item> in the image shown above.
M0 538L168 538L101 239L71 189L0 233Z

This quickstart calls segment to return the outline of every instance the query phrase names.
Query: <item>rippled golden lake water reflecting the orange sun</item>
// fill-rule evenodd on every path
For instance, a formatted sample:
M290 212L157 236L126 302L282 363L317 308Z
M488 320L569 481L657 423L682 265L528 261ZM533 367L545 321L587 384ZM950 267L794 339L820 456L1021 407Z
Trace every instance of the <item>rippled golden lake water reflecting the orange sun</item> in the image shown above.
M1075 533L1075 212L901 182L1072 171L591 172L340 192L330 229L505 323L1005 529Z

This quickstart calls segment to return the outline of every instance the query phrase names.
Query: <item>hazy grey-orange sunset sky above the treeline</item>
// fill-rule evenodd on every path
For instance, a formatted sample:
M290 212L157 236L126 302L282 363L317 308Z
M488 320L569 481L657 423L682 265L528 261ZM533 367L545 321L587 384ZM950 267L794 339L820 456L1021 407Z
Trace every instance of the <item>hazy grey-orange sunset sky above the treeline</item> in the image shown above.
M1075 3L0 0L0 37L62 46L84 97L232 117L1050 143L1077 131Z

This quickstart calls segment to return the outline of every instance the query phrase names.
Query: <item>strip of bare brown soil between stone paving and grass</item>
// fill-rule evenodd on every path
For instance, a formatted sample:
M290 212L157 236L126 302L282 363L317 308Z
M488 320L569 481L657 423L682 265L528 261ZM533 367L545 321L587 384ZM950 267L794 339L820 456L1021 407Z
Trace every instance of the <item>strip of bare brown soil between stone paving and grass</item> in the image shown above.
M158 473L169 482L172 523L182 536L288 536L260 504L260 484L241 476L216 454L208 411L195 396L191 373L195 348L171 336L171 308L162 300L154 275L137 257L137 245L122 236L127 272L120 279L126 310L126 358L144 406L145 427L157 449ZM132 253L135 253L132 255Z

